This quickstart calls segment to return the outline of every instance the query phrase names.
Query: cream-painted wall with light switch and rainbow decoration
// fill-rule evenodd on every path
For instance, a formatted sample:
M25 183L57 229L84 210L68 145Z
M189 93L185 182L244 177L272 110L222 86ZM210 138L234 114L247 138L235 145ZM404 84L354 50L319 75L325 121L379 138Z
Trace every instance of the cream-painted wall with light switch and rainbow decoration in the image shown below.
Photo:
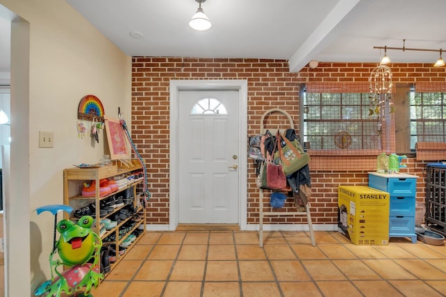
M130 125L131 57L112 45L64 0L0 0L0 5L0 13L7 8L22 18L15 21L19 22L17 30L13 22L11 36L16 40L11 50L13 141L10 197L6 198L11 211L20 215L10 214L7 218L13 234L9 234L11 255L6 257L20 266L20 274L8 271L9 296L28 296L50 277L53 216L37 216L35 209L63 204L64 168L97 162L104 154L104 131L100 132L99 144L88 136L77 137L79 100L89 94L99 97L106 115L113 118L119 106ZM24 49L19 48L20 44ZM24 71L26 66L29 73ZM54 148L38 147L39 131L54 132ZM13 240L16 236L20 241ZM29 255L22 252L18 258L20 250L29 251ZM30 275L27 271L31 271Z

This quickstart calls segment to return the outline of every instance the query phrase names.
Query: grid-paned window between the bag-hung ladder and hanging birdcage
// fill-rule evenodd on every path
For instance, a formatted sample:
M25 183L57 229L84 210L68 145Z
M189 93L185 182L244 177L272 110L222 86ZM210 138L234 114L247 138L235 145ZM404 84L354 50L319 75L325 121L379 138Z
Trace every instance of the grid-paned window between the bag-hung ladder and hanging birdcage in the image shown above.
M312 150L376 150L368 93L303 93L303 139ZM344 141L343 141L344 140Z

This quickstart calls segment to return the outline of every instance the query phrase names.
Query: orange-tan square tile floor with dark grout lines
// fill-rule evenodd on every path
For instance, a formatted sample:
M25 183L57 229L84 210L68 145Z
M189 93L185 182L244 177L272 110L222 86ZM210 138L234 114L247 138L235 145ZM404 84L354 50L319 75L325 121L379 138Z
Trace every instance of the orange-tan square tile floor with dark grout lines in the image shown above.
M95 297L446 296L446 247L338 232L146 232Z

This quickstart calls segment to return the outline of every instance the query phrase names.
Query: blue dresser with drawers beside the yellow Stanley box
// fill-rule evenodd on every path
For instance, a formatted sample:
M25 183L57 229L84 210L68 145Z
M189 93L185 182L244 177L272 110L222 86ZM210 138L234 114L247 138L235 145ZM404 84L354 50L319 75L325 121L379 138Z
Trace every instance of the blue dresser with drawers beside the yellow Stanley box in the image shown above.
M369 172L369 186L390 195L389 237L410 237L412 242L416 243L417 176Z

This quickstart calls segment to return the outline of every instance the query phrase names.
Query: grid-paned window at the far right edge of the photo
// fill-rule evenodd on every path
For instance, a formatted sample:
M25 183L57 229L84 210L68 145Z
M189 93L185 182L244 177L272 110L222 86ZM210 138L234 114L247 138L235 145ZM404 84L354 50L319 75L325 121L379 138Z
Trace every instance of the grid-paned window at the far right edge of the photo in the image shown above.
M410 150L417 142L446 142L446 93L410 92Z

